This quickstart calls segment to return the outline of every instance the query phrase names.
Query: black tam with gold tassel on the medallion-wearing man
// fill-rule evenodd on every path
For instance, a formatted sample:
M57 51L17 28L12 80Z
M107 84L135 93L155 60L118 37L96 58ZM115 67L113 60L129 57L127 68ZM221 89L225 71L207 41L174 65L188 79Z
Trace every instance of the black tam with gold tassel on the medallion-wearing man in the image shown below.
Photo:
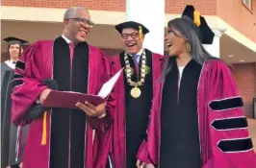
M144 25L135 21L127 21L115 25L115 29L119 32L119 34L121 34L122 30L125 28L132 28L139 31L140 36L142 36L141 34L146 35L147 33L149 33L149 30L146 27L144 27Z

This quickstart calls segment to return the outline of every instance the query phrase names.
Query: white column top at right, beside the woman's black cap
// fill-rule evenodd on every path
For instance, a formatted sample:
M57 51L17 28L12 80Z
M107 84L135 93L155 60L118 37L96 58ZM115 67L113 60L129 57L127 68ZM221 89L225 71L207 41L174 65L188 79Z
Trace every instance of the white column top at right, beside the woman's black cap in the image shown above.
M214 57L220 58L220 37L225 32L225 29L213 29L215 38L213 44L204 44L205 49Z

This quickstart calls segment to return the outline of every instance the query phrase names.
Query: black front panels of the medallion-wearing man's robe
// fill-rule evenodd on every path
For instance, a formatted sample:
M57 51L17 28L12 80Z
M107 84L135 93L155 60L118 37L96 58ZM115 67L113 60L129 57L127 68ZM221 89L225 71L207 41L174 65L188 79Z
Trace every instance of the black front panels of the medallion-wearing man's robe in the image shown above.
M123 74L125 84L125 119L126 119L126 168L136 168L136 155L143 139L146 139L146 128L151 108L153 82L152 82L152 53L145 49L146 65L150 72L145 77L145 83L139 88L141 96L133 98L130 94L133 86L127 84L125 72ZM119 55L121 66L125 66L124 53ZM132 81L137 82L138 75L134 60L128 57L130 65L135 69ZM139 62L139 79L141 79L141 59Z

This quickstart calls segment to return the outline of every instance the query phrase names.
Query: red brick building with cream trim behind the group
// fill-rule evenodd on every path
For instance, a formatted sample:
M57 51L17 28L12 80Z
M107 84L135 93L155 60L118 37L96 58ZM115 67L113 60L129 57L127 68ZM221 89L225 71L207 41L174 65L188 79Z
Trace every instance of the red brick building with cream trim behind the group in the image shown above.
M128 1L136 0L2 0L2 38L17 36L29 40L29 44L38 39L53 39L61 34L64 10L84 6L96 23L89 42L111 56L122 49L114 26L126 20ZM155 1L165 3L165 25L169 19L180 16L188 4L206 17L217 34L216 46L211 50L234 65L246 116L252 117L252 98L256 97L256 0ZM144 2L141 8L152 3ZM2 42L1 48L3 61L7 59L7 44Z

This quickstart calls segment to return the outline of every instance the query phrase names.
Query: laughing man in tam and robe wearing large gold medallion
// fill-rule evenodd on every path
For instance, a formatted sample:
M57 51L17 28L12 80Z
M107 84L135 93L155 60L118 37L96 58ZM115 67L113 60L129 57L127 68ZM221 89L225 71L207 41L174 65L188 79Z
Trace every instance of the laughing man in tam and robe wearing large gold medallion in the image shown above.
M124 67L115 84L116 108L111 163L118 168L136 168L136 154L146 141L146 127L151 108L153 87L161 74L164 56L142 47L149 33L141 23L128 21L115 26L124 51L110 57L112 74Z

